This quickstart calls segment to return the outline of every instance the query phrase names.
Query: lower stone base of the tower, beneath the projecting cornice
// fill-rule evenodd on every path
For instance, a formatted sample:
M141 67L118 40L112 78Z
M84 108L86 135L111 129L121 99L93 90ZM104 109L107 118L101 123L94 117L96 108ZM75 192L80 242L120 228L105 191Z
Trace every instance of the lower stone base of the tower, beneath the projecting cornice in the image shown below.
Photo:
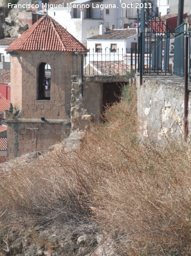
M68 120L10 118L7 121L7 156L10 159L33 150L47 150L51 145L67 138L70 130L71 122Z

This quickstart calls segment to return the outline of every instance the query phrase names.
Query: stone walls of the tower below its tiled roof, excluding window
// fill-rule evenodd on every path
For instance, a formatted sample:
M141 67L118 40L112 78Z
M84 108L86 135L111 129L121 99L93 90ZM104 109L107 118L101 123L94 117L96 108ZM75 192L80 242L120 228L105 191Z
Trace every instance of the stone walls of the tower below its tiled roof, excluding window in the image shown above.
M80 68L78 59L71 52L11 52L14 115L10 111L6 115L8 158L36 150L28 128L37 128L37 150L47 150L70 134L71 75L73 64L74 69ZM38 99L40 63L51 68L50 99Z

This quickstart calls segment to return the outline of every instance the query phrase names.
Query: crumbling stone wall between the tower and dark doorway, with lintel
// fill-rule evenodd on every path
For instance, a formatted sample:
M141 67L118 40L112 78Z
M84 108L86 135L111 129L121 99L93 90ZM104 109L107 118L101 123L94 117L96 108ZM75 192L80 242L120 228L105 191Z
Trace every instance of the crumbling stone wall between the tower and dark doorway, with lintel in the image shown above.
M103 112L103 83L127 83L126 76L72 76L72 130L89 127L89 122L101 120Z

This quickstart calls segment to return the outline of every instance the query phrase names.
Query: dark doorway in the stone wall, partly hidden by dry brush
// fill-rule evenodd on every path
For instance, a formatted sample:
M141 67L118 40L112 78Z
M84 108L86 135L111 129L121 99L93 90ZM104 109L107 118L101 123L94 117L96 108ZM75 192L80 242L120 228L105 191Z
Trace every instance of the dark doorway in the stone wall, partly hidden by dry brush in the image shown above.
M120 101L121 83L104 83L103 91L103 110L106 106L112 106L114 102Z

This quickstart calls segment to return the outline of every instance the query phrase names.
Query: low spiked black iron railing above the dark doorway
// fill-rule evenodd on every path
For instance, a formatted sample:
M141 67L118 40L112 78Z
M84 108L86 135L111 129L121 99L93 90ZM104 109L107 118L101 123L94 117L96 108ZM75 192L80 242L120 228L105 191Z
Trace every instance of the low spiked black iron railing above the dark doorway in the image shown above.
M73 75L125 75L135 65L136 58L136 50L128 48L73 50Z

